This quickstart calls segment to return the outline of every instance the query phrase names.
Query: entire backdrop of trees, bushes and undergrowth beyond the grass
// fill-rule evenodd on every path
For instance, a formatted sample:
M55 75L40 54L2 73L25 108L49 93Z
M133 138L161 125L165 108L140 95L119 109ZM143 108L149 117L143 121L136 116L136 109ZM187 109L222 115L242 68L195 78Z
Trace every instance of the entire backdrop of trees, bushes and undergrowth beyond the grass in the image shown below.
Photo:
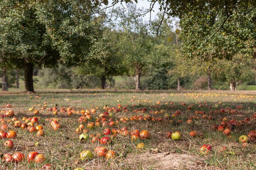
M5 0L2 6L12 4ZM145 10L134 4L96 15L88 15L95 9L86 6L87 1L58 1L36 3L22 12L3 8L2 89L19 84L27 91L34 91L34 85L150 90L256 85L255 24L247 23L255 16L253 8L242 20L234 13L222 22L223 12L218 19L211 16L219 9L210 13L192 6L178 23L161 13L147 22L140 16ZM212 27L220 24L223 28L215 32Z

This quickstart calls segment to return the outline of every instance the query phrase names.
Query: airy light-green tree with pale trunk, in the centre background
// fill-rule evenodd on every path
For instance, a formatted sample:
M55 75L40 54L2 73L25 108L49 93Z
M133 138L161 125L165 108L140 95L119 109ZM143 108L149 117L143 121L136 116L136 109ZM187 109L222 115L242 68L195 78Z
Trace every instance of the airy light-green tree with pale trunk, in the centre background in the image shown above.
M154 40L150 26L138 15L143 9L128 5L127 9L117 8L113 12L115 29L119 33L119 55L123 63L134 75L135 89L140 89L140 78L145 67L161 63L166 52L165 47Z

